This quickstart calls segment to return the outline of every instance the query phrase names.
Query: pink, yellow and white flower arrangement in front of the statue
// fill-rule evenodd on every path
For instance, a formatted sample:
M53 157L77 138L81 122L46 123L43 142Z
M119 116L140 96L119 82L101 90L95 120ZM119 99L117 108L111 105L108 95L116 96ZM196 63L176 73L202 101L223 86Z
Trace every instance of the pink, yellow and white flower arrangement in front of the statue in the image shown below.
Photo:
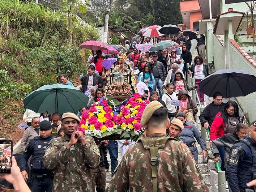
M140 121L148 103L135 93L127 104L120 106L120 112L116 114L115 102L103 97L82 113L78 131L97 138L119 135L119 139L136 140L145 131Z

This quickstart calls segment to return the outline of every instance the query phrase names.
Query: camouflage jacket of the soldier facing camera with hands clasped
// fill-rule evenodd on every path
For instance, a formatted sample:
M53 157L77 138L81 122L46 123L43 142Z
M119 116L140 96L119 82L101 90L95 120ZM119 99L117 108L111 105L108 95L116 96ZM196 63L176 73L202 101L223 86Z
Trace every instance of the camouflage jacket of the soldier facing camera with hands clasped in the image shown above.
M85 136L84 136L85 137ZM92 137L85 137L86 144L77 142L66 148L66 135L52 139L43 157L44 166L54 170L53 192L92 191L90 169L101 161L99 149Z

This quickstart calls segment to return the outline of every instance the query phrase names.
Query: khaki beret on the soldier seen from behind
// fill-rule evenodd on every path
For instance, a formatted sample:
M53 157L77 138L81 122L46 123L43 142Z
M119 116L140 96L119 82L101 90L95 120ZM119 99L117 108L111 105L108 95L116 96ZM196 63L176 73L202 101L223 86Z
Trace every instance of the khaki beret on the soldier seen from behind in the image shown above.
M144 126L146 123L148 123L153 113L161 107L163 107L163 105L158 101L150 102L148 106L146 106L142 114L141 121L140 121L141 126Z

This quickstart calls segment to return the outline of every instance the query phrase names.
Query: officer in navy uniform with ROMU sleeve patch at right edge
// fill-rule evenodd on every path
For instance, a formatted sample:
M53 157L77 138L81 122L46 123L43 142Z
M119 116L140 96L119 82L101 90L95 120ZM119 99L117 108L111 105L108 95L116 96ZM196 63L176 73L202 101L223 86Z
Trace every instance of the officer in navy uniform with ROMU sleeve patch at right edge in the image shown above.
M251 123L249 137L232 146L226 165L227 182L232 192L246 191L246 183L256 178L256 120Z

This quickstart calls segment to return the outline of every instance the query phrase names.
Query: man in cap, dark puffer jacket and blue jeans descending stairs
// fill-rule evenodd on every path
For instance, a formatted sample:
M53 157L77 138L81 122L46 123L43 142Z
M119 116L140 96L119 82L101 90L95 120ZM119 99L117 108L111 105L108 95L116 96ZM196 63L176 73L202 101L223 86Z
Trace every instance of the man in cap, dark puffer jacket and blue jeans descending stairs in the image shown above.
M157 54L153 55L150 67L151 67L151 71L153 73L153 76L155 78L155 82L153 85L153 90L157 90L159 91L159 95L160 95L160 99L162 99L163 96L163 82L165 81L166 78L166 71L165 71L165 66L163 65L163 63L161 63L160 61L157 61L158 56Z

